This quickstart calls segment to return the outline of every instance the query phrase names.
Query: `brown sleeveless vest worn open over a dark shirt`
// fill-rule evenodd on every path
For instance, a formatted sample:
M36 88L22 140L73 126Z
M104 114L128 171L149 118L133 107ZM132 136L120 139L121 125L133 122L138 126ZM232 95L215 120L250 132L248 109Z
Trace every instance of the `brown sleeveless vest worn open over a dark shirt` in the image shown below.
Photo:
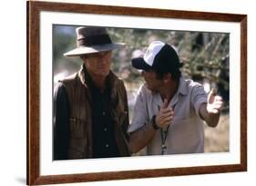
M128 148L128 100L124 83L110 72L111 111L115 125L118 150L121 156L130 156ZM92 158L91 93L87 86L83 67L78 73L61 81L66 90L70 105L68 159Z

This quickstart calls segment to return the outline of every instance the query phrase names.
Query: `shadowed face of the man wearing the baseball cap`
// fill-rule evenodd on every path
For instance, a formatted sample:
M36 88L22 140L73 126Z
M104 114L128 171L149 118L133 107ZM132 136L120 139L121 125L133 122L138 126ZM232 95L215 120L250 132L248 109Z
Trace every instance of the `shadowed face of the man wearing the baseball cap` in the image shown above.
M151 70L142 71L142 76L146 82L149 90L153 92L159 92L160 88L163 86L163 80L157 77L157 73Z

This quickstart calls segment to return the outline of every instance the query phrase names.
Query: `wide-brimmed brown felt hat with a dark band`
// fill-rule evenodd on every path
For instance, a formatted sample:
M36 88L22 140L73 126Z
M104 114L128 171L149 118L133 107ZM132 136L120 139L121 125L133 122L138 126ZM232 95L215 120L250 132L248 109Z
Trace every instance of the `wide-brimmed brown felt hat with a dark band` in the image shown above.
M77 27L77 48L65 53L67 57L111 51L122 43L112 43L107 31L103 27Z

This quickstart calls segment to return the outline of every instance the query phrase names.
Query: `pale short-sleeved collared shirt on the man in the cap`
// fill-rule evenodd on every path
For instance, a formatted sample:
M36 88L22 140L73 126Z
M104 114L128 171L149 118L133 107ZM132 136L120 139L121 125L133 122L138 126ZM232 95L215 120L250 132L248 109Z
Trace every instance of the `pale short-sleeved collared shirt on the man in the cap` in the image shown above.
M153 115L159 113L162 103L159 93L152 93L145 84L142 85L128 132L137 131L150 122ZM165 154L204 152L203 121L199 114L202 103L207 103L207 93L203 86L181 77L178 91L169 102L169 107L174 108L174 118L169 125ZM158 130L148 143L148 155L161 154L161 144L161 130Z

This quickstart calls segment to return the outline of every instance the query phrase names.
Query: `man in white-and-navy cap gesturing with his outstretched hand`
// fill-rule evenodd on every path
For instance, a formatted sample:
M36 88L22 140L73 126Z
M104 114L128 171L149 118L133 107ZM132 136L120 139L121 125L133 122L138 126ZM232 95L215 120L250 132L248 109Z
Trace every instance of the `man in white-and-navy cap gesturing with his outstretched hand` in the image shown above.
M217 126L221 97L213 90L207 95L200 83L181 76L182 64L169 44L152 42L132 65L143 70L146 83L128 127L131 151L147 146L148 155L204 152L202 121Z

